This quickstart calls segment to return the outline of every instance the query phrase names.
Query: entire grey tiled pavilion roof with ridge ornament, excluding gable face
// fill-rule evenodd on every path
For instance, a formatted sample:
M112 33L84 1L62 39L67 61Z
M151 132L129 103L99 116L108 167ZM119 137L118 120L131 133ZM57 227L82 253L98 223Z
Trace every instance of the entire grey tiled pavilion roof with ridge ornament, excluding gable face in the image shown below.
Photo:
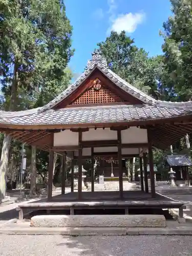
M82 73L74 84L69 86L54 100L42 108L33 110L19 112L0 111L0 125L3 127L3 124L65 125L78 123L129 122L192 115L192 101L166 102L155 100L112 72L106 66L106 61L102 59L98 51L92 55L93 57L92 60L88 62L87 70ZM96 68L113 81L117 87L141 100L143 105L94 106L53 110L53 106L73 93Z

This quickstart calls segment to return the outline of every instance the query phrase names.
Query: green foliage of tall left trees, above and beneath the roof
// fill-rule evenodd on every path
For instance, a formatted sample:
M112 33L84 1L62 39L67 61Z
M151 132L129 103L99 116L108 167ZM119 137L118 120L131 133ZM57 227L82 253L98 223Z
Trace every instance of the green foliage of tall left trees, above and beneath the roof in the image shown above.
M74 52L72 27L63 1L0 0L0 20L1 108L26 110L45 105L72 78L67 68ZM13 141L10 155L18 166L19 148L20 143ZM31 159L30 147L26 149ZM37 172L44 173L47 164L48 153L37 150Z

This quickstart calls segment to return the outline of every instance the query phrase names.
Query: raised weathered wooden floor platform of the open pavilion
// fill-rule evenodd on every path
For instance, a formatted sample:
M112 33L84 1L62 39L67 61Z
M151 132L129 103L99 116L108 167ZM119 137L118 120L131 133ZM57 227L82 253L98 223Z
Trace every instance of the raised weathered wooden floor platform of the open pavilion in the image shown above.
M183 209L183 203L170 200L160 194L156 194L156 198L152 198L150 193L143 191L124 191L123 200L119 199L118 191L84 191L82 192L82 200L78 201L77 192L67 193L52 197L51 201L41 199L30 203L21 203L19 219L23 219L23 209L27 210L67 210L70 209L74 214L74 209L125 209L128 214L129 209L136 208L180 208ZM182 212L181 212L182 215Z

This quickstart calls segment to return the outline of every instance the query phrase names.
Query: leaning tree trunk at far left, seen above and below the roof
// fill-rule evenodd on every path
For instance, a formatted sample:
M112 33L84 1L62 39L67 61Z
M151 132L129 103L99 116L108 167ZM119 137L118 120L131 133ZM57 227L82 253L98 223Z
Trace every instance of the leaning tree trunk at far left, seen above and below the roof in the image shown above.
M17 99L17 87L18 87L18 67L14 65L13 71L13 80L11 87L11 99L9 110L13 111L16 105ZM6 172L9 165L9 150L10 150L11 136L4 136L3 145L2 145L2 155L0 160L0 199L5 198L6 194Z

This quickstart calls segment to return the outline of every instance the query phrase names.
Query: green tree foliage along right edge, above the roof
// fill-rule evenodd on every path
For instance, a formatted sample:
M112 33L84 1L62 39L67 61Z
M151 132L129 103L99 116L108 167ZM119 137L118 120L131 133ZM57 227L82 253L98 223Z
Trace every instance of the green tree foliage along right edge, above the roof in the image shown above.
M173 16L163 24L164 80L173 100L192 99L192 2L171 0Z

